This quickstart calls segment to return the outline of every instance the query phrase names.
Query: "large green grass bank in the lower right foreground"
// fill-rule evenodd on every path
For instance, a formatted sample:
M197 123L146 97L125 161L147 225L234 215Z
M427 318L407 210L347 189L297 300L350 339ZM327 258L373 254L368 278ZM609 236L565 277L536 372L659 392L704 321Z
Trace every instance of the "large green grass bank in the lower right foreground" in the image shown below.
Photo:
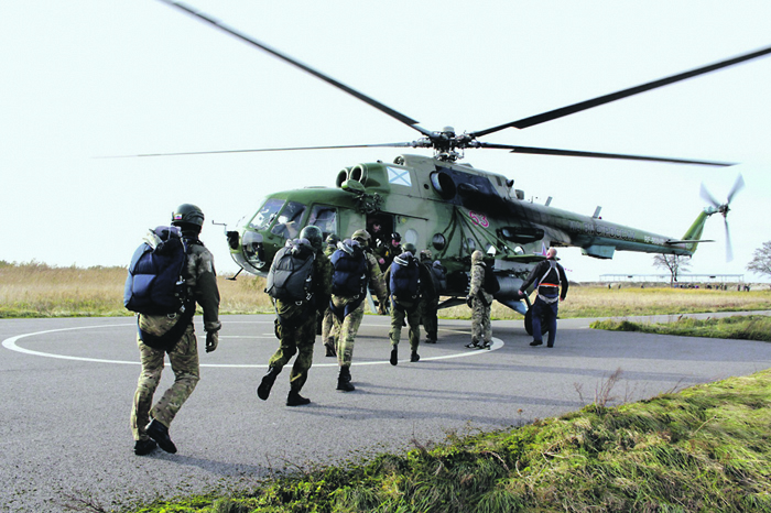
M769 456L763 371L137 511L771 511Z

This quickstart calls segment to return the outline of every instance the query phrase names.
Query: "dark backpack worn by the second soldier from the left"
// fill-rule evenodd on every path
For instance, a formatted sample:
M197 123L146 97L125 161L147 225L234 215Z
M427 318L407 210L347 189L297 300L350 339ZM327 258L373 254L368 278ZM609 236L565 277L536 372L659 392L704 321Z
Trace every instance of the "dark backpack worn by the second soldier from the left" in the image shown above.
M281 301L311 301L315 259L316 252L306 239L286 241L286 245L273 256L268 272L268 295Z

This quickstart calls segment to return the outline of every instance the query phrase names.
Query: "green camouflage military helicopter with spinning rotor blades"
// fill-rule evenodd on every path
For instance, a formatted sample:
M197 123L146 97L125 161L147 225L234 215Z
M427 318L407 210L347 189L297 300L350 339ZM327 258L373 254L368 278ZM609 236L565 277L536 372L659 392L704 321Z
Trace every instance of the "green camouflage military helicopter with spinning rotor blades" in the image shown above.
M297 237L307 225L318 226L325 237L336 233L346 238L357 229L370 229L378 223L386 233L401 233L403 242L411 242L419 249L431 249L434 258L446 268L447 284L441 293L447 299L442 303L442 307L464 301L468 291L470 254L478 249L495 260L495 273L500 284L496 299L523 315L528 314L529 302L525 297L523 304L518 291L534 264L545 258L545 248L578 247L584 254L596 259L611 259L616 251L692 255L698 243L705 242L701 237L706 220L718 212L726 218L729 204L743 186L743 181L737 181L725 204L719 204L708 193L703 193L710 203L709 207L698 214L682 237L675 238L606 221L599 215L599 207L593 216L585 216L554 208L549 201L545 205L529 201L524 192L513 188L512 179L461 162L465 150L491 149L523 154L730 166L734 164L728 162L493 144L479 139L509 128L522 130L560 119L771 53L771 47L761 48L549 112L458 134L452 127L439 131L424 129L416 120L188 6L174 0L161 1L316 76L422 135L414 141L401 143L165 155L345 148L413 148L434 151L434 156L431 157L401 154L390 163L377 161L344 167L337 174L334 188L308 187L268 195L257 212L239 230L226 231L231 256L241 270L265 275L275 252L287 239Z

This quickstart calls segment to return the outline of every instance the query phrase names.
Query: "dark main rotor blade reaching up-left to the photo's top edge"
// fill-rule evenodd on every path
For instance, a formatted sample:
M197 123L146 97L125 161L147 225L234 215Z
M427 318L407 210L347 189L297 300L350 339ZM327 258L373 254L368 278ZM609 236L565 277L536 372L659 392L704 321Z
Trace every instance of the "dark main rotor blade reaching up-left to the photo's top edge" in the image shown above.
M337 81L334 78L323 74L322 72L318 72L318 70L312 68L311 66L303 64L300 61L292 58L289 55L285 55L281 52L279 52L278 50L275 50L275 48L273 48L273 47L271 47L271 46L269 46L269 45L267 45L258 40L254 40L254 39L248 36L247 34L243 34L242 32L237 31L236 29L227 26L224 23L220 23L219 21L217 21L213 18L209 18L208 15L206 15L202 12L194 10L193 8L191 8L188 6L185 6L184 3L176 2L174 0L160 0L160 1L162 1L163 3L167 3L169 6L175 7L177 9L181 9L193 17L196 17L196 18L198 18L207 23L213 24L214 26L216 26L219 30L225 31L228 34L240 39L241 41L245 41L253 46L257 46L258 48L260 48L264 52L268 52L269 54L273 55L274 57L278 57L282 61L287 62L289 64L291 64L293 66L298 67L303 72L310 73L311 75L315 76L316 78L321 78L322 80L326 81L327 84L330 84L330 85L337 87L338 89L341 89L341 90L348 92L349 95L354 96L355 98L358 98L361 101L363 101L365 103L368 103L368 105L374 107L376 109L380 110L381 112L387 113L388 116L395 119L397 121L400 121L400 122L406 124L408 127L417 130L419 132L421 132L424 135L431 135L431 131L428 131L422 127L419 127L417 121L410 118L409 116L404 116L401 112L398 112L398 111L391 109L390 107L384 106L383 103L379 102L378 100L376 100L373 98L370 98L369 96L365 95L363 92L359 92L356 89L350 88L350 87L346 86L345 84Z

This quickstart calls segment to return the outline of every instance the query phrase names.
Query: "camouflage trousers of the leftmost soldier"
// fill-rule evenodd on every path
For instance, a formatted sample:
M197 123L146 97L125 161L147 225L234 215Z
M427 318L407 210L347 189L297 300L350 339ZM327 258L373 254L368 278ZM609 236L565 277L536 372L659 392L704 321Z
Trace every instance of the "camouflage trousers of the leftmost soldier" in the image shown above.
M134 440L146 440L145 427L150 417L169 427L182 405L191 396L198 384L198 343L195 330L191 324L174 349L169 351L169 361L174 372L174 383L163 393L163 396L150 407L155 389L161 381L165 351L146 346L137 337L142 371L139 374L134 402L131 408L131 433Z

